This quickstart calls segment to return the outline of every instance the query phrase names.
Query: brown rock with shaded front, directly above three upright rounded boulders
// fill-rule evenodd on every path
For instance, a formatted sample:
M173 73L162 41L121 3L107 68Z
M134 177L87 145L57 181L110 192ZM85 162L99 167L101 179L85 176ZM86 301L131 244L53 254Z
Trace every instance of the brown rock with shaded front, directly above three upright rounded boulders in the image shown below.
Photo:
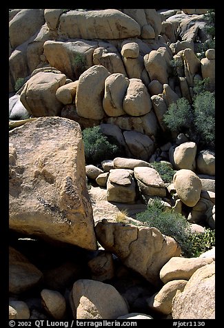
M94 65L104 66L111 74L121 73L126 75L121 55L117 52L116 48L114 50L113 52L103 47L96 48L92 55L93 63Z

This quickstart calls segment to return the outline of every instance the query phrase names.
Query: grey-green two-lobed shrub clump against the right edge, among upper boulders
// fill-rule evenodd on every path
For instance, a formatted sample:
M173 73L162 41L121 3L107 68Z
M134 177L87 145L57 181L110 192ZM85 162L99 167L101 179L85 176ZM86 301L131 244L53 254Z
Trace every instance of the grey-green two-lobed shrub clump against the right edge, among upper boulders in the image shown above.
M205 91L194 96L192 106L181 98L172 103L163 116L163 121L172 132L184 133L194 141L198 150L215 147L215 98Z

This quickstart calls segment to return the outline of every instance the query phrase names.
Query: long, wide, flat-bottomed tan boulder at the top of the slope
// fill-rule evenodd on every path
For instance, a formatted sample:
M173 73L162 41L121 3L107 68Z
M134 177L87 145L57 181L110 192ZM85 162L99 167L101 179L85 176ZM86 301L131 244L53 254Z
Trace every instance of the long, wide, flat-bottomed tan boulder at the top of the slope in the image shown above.
M127 39L138 37L140 26L116 9L70 10L61 14L58 33L69 39Z

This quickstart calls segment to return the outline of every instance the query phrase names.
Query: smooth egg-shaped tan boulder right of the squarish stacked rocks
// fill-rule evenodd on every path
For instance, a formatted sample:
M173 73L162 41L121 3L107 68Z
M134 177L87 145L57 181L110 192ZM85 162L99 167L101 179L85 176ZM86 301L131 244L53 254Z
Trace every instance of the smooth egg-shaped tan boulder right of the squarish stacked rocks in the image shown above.
M198 203L201 194L201 180L191 170L181 169L174 174L174 187L181 201L190 207Z

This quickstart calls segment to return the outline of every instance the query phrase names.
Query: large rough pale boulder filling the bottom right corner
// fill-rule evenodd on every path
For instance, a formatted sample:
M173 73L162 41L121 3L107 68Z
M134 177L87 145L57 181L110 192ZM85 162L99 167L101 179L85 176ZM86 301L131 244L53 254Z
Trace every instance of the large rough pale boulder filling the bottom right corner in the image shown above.
M185 289L172 301L173 319L215 318L214 262L197 269Z

